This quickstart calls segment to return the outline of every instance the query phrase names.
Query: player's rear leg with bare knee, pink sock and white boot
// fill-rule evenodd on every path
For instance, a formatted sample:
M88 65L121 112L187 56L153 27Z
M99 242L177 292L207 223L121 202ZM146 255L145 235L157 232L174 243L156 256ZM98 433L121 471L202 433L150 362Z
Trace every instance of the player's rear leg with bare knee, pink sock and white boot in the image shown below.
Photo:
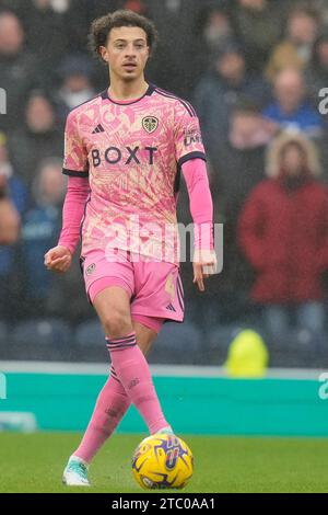
M157 335L157 328L150 329L140 322L132 321L137 342L142 353L147 355ZM152 325L152 323L151 323ZM112 436L117 425L129 409L131 401L127 396L115 370L104 385L78 449L71 456L65 469L63 482L68 485L89 485L87 468L101 447Z

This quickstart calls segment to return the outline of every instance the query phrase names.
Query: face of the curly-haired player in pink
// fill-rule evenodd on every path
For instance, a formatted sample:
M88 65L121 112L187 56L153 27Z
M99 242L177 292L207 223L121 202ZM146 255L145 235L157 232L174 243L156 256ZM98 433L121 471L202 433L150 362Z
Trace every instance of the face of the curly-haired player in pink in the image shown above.
M126 81L136 80L143 73L149 50L145 32L134 26L112 28L107 45L101 47L110 75Z

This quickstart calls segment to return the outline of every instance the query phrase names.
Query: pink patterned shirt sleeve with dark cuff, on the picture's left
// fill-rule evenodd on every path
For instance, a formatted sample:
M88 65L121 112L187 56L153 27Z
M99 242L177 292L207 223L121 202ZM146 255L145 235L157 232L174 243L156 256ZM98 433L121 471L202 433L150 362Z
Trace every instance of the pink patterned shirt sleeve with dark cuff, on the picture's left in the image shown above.
M68 115L65 128L65 158L62 173L73 178L89 176L87 151L79 134L74 112Z

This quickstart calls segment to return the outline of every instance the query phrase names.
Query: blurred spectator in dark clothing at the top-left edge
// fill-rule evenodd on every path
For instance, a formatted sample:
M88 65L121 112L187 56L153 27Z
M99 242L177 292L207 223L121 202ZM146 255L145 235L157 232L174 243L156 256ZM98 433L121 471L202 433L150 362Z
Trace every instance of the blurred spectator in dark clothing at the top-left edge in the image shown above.
M0 12L0 85L7 92L7 115L0 116L0 130L20 124L26 95L39 81L35 57L24 49L24 31L19 18Z

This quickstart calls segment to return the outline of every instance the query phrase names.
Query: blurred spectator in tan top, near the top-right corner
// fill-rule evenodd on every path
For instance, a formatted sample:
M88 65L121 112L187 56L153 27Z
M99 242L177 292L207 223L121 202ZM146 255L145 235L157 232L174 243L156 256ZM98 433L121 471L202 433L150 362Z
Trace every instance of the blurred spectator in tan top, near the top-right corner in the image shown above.
M306 67L319 27L319 14L316 10L298 7L291 11L285 38L273 48L267 67L267 76L271 81L284 68L303 70Z

